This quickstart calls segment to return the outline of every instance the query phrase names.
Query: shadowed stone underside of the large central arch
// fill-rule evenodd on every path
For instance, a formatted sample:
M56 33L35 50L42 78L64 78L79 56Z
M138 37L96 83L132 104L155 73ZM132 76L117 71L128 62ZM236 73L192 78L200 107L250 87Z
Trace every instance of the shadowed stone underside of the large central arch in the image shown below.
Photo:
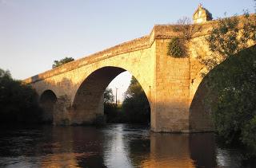
M71 105L71 124L90 124L98 116L104 115L103 93L108 84L125 71L124 68L106 66L91 72L75 93ZM147 100L149 101L148 96Z

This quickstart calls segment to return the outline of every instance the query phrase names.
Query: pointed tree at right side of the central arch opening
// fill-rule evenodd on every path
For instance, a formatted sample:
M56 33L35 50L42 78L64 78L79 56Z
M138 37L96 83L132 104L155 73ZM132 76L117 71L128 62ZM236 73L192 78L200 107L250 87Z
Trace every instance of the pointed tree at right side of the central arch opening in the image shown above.
M150 104L146 98L145 92L134 76L132 76L130 86L125 93L122 108L129 122L150 122Z

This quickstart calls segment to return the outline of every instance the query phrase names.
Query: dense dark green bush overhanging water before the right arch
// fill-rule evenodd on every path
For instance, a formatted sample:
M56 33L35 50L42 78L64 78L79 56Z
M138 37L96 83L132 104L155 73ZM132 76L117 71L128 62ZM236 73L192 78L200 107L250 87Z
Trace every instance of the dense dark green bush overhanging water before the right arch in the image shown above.
M216 100L212 115L226 143L242 143L256 152L256 45L219 64L207 76ZM210 97L210 95L206 97ZM256 156L256 155L255 155Z

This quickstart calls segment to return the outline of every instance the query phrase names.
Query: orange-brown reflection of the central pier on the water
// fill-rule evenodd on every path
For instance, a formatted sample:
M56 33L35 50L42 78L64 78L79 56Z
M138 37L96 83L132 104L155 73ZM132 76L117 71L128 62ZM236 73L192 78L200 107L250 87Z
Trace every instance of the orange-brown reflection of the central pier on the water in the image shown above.
M189 135L151 134L150 157L143 167L193 167L190 159Z

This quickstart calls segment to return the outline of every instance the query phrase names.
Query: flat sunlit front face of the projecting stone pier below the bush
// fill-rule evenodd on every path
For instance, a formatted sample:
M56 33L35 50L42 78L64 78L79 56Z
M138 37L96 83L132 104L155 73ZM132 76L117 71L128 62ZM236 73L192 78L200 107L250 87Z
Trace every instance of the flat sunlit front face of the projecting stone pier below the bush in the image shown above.
M157 131L189 130L189 58L167 56L170 40L156 40Z

